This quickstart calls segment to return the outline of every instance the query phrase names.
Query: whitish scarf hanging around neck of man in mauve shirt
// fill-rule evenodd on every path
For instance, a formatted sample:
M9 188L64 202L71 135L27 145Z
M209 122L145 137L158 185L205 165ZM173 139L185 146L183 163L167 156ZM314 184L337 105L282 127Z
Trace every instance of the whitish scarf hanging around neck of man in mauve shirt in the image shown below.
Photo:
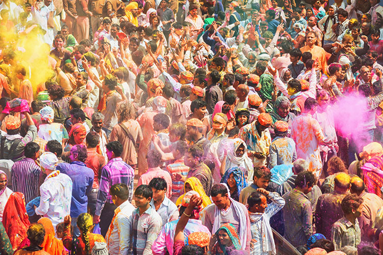
M226 185L226 184L225 184ZM230 193L230 192L229 192ZM231 197L229 197L230 199L230 202L231 204L233 205L233 210L235 212L237 212L236 214L238 215L238 217L240 218L240 229L238 231L238 234L237 237L239 236L239 239L237 240L238 241L238 248L235 247L235 249L242 249L242 250L245 250L246 249L246 242L247 242L247 233L246 233L246 227L247 227L247 222L246 222L246 217L245 215L243 214L243 210L242 210L242 207L241 207L241 203L240 202L237 202L237 201L234 201ZM213 224L213 228L212 228L212 233L216 233L218 234L219 230L222 229L222 226L224 225L231 225L229 223L225 223L223 224L221 227L219 226L219 224L221 224L221 210L216 206L216 210L214 211L214 224ZM235 231L235 228L234 226L232 226L234 229L234 232L236 233ZM227 233L229 234L229 231L227 231ZM232 233L233 234L233 233ZM229 234L230 235L230 234ZM242 245L239 243L239 240L242 241ZM231 240L233 241L233 239ZM235 240L234 240L235 241ZM234 244L234 241L233 241L233 244ZM234 244L235 245L235 244ZM221 246L221 245L220 245ZM242 248L241 248L242 247ZM225 250L223 250L225 251ZM225 253L226 254L226 253Z

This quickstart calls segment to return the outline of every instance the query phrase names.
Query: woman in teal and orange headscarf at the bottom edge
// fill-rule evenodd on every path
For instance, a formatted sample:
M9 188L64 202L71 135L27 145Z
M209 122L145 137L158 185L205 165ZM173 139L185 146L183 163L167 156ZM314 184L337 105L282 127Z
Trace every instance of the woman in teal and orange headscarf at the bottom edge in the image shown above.
M223 224L210 239L209 250L212 254L229 255L233 250L240 249L240 239L231 223Z

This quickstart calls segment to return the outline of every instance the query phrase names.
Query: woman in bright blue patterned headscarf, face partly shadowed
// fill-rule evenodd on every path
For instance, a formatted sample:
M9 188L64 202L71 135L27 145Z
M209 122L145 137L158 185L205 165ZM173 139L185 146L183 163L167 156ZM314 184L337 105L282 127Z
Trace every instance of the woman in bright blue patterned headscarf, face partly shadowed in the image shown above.
M239 167L229 168L222 177L221 183L227 184L230 197L235 201L240 200L241 191L247 187L245 175Z

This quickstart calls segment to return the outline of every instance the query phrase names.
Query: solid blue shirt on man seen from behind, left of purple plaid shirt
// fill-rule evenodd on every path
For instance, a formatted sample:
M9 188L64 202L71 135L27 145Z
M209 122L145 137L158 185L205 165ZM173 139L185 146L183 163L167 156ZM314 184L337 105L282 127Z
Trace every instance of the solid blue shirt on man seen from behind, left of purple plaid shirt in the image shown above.
M88 206L86 194L92 191L93 170L80 161L73 161L70 164L60 163L56 169L68 175L73 182L70 217L78 217L80 214L86 213Z

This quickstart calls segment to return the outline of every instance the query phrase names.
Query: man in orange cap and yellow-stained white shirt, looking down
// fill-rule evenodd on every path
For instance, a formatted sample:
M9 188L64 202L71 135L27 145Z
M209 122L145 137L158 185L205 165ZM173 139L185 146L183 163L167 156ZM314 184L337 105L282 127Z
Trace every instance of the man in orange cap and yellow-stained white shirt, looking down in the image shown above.
M268 127L273 120L268 113L260 113L257 121L247 124L240 129L238 137L245 141L248 154L253 157L254 167L261 167L266 164L271 145L271 136Z

